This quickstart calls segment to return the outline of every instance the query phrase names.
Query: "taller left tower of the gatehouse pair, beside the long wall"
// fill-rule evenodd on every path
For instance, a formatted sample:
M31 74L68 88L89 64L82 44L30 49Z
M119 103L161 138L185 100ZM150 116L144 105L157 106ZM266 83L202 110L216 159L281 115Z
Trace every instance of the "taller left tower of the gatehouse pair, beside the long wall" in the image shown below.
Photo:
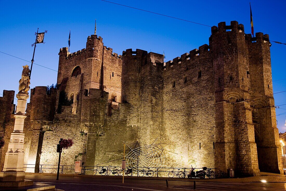
M212 27L210 50L215 76L215 166L259 174L249 100L249 60L244 27L237 21Z

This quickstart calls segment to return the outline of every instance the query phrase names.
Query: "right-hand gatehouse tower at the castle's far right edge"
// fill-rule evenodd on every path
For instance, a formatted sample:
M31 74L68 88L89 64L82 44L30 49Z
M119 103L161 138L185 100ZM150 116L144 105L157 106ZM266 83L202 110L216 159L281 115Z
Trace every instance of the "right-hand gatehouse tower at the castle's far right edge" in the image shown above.
M256 33L252 38L247 34L246 43L249 52L249 92L259 169L262 172L283 173L273 98L269 36Z

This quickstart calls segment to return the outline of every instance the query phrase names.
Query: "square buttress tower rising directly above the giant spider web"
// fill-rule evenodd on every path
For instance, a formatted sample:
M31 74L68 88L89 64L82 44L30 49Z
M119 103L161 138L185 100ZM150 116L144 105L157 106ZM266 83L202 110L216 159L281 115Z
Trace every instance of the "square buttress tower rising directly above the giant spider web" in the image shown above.
M162 73L164 55L149 52L140 69L140 127L139 141L152 144L161 140Z

